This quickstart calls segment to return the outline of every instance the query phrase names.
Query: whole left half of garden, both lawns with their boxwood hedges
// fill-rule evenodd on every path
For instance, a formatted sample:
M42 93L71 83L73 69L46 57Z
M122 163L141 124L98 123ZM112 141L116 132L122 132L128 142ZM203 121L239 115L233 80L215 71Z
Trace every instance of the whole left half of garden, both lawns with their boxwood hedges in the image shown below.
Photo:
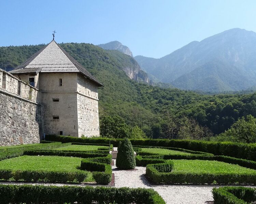
M0 148L0 179L51 183L96 182L106 185L112 179L112 157L109 154L111 148L113 146L109 147L108 144L72 145L46 141L41 144ZM83 158L106 167L86 171L81 168Z

